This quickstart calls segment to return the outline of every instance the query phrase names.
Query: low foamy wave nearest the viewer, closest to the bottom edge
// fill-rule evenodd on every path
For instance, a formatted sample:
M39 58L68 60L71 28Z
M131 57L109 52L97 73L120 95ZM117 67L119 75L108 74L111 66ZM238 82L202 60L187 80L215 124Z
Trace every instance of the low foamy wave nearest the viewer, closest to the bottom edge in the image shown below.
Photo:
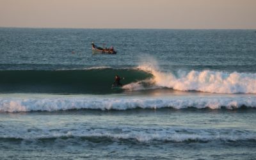
M139 143L169 142L169 143L205 143L211 141L256 141L256 134L252 131L240 131L236 129L140 129L136 131L131 128L118 129L120 132L113 132L108 129L76 129L73 131L45 131L27 132L26 134L3 135L0 139L4 140L70 140L77 141L136 141Z

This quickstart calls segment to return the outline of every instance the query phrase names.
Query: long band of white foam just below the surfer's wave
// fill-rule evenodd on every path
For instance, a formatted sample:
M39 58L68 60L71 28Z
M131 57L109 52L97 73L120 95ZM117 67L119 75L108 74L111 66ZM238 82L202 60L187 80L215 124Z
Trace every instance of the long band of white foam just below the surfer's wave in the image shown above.
M0 98L0 112L61 111L69 109L238 109L256 108L255 97L50 97Z

